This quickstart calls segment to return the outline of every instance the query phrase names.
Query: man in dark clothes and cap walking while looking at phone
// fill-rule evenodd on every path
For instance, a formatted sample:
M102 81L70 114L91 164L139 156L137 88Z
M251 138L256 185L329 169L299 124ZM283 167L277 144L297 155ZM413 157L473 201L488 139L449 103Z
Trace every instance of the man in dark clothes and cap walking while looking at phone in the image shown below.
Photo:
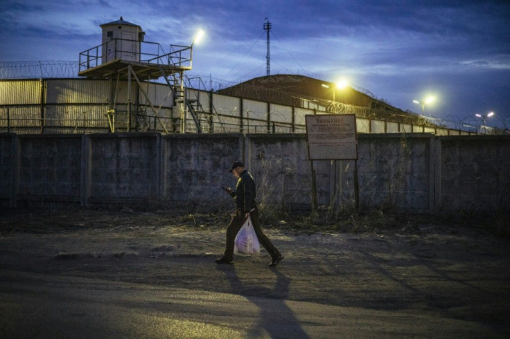
M236 240L236 235L241 227L243 227L246 219L251 217L258 242L267 250L267 253L271 255L272 260L269 266L274 267L281 262L283 255L274 247L270 239L264 235L261 225L258 222L258 208L255 200L256 189L253 176L245 169L245 164L240 161L234 162L229 172L238 178L235 191L231 190L230 187L225 189L225 191L236 200L236 213L234 217L232 217L229 226L227 226L225 253L223 257L216 259L216 263L234 264L234 241Z

